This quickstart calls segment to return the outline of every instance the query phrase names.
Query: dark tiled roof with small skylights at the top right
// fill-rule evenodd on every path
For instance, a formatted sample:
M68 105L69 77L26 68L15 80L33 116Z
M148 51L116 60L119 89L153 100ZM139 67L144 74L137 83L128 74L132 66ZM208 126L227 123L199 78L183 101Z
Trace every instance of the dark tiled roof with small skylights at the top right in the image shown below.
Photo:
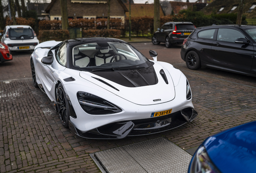
M238 6L241 0L215 0L208 6L202 9L204 14L227 14L227 13L237 13ZM245 0L243 7L243 15L246 19L251 19L256 17L256 0Z

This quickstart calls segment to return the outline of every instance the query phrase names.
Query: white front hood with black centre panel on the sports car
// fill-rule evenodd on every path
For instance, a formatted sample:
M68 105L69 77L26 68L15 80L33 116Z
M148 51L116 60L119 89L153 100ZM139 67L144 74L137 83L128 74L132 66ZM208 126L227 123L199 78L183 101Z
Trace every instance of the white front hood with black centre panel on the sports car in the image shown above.
M83 71L80 76L137 105L155 105L175 98L169 72L157 63L136 70Z

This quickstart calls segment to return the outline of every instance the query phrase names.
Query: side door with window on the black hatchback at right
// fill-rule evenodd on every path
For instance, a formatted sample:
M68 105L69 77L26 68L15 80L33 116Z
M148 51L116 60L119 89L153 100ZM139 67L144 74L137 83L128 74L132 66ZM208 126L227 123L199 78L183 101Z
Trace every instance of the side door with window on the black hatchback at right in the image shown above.
M235 43L237 38L246 38L246 36L233 28L218 29L217 40L212 46L213 64L234 70L250 71L254 46L252 43Z

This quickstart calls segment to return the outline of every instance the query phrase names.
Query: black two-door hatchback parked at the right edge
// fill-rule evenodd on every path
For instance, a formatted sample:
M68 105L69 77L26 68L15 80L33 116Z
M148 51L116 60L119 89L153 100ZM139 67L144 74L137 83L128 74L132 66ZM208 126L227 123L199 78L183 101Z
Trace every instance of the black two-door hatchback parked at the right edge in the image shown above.
M184 40L180 54L192 70L207 66L256 76L256 26L196 28Z

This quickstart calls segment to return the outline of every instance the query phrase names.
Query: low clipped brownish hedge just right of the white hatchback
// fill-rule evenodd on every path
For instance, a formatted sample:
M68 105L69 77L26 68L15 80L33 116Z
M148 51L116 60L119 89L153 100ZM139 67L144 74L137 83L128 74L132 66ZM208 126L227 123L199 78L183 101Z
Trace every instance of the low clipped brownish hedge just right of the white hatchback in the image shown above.
M68 30L40 30L38 40L45 42L49 40L63 41L69 39Z

